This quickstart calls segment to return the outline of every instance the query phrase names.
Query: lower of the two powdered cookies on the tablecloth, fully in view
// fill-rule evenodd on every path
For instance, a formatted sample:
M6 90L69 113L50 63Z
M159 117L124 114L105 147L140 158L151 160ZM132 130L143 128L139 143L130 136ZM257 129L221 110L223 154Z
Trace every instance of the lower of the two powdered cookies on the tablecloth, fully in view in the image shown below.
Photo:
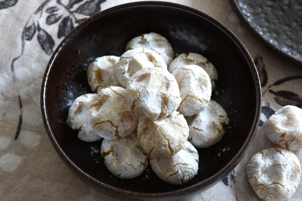
M264 149L252 157L246 173L259 198L286 200L294 194L300 182L300 163L287 149Z

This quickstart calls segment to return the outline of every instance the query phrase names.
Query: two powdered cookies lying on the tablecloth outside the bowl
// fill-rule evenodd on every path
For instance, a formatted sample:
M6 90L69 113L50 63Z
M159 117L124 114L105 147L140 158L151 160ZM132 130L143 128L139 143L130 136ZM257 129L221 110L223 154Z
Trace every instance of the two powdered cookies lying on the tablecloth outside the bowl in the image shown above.
M256 153L247 165L247 177L261 199L287 200L300 182L300 162L292 151L302 149L302 109L284 106L263 127L279 147Z

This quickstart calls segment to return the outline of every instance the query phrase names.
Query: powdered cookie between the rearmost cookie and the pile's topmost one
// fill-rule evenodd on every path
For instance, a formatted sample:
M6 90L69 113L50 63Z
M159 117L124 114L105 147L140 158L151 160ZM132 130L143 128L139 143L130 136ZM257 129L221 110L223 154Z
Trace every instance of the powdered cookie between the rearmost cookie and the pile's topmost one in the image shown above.
M126 87L130 77L137 71L144 68L162 68L167 70L163 58L153 50L136 48L125 52L120 56L115 73L120 86Z

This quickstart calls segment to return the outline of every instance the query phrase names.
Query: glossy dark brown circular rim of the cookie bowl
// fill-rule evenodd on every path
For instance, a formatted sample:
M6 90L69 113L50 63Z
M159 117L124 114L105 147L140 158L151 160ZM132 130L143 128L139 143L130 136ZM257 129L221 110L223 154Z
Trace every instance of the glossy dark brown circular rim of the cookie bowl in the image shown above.
M186 12L190 12L191 14L198 15L199 17L204 18L208 22L214 24L216 27L220 28L225 34L227 34L239 47L239 49L243 52L244 56L246 57L246 60L248 61L248 64L250 66L250 69L253 74L254 82L255 82L255 89L256 89L256 113L255 117L253 120L252 128L249 132L249 135L247 139L244 141L243 146L239 149L239 151L236 153L236 155L228 162L223 168L221 168L219 171L217 171L215 174L212 176L208 177L207 179L198 182L197 184L191 185L189 187L185 187L182 189L178 190L173 190L169 192L164 192L164 193L140 193L140 192L135 192L135 191L130 191L130 190L124 190L120 189L118 187L111 186L109 184L106 184L104 182L98 181L94 177L90 176L87 174L85 171L83 171L80 167L78 167L63 151L61 146L59 145L58 141L56 140L56 137L54 136L53 130L50 127L49 123L49 118L48 118L48 113L47 113L47 108L46 108L46 89L47 89L47 83L48 83L48 78L50 76L50 70L53 66L53 63L57 57L57 55L61 52L63 47L66 45L66 43L77 33L79 33L81 30L83 30L88 24L92 23L98 17L104 16L112 11L117 11L119 9L123 8L128 8L132 6L142 6L142 5L156 5L156 6L162 6L162 7L173 7L179 10L184 10ZM47 130L48 137L50 138L50 141L52 145L55 147L56 151L59 153L61 158L64 159L67 164L72 167L78 174L84 176L86 179L92 181L94 184L96 184L98 187L104 188L106 190L109 190L114 193L119 193L119 194L124 194L127 196L134 196L134 197L166 197L166 196L180 196L183 194L187 193L192 193L194 191L197 191L201 189L202 187L206 187L209 184L214 184L218 182L219 180L223 179L227 174L232 171L236 165L240 162L240 160L243 158L245 155L247 149L249 148L250 144L252 143L252 140L255 136L255 133L258 128L259 120L260 120L260 114L261 114L261 104L262 104L262 94L261 94L261 85L260 85L260 80L259 80L259 75L257 72L257 69L255 67L255 64L249 55L249 52L245 48L245 46L242 44L242 42L235 36L235 34L230 31L228 28L226 28L223 24L215 20L214 18L210 17L209 15L198 11L194 8L190 8L185 5L180 5L176 3L170 3L170 2L158 2L158 1L146 1L146 2L132 2L132 3L127 3L127 4L121 4L117 5L111 8L108 8L106 10L103 10L92 17L89 17L87 20L79 24L77 27L75 27L57 46L56 50L53 52L52 56L50 57L50 60L47 64L44 76L43 76L43 81L42 81L42 86L41 86L41 112L42 112L42 117L43 117L43 123L44 126Z

